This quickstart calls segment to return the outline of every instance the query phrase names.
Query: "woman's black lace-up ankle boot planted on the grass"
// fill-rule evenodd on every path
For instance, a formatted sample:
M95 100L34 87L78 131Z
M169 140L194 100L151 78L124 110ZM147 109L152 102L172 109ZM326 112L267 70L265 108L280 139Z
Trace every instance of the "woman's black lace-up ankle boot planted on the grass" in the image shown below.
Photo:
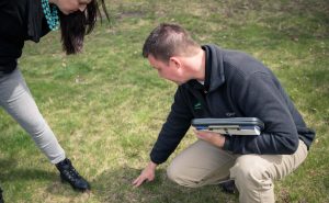
M60 172L61 181L67 181L71 187L81 192L90 190L90 185L75 169L69 159L56 163L57 169Z

